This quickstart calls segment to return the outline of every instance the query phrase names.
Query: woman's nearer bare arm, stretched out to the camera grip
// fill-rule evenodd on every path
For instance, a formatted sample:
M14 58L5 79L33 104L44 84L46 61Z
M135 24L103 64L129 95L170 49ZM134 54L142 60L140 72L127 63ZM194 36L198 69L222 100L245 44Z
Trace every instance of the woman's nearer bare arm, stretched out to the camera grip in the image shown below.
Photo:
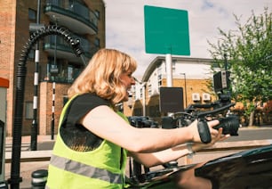
M189 127L176 129L136 128L106 105L89 111L80 123L95 135L130 152L159 152L188 142L200 142L196 122ZM209 125L215 126L218 123L219 121L212 121ZM210 130L212 137L219 134L212 127Z

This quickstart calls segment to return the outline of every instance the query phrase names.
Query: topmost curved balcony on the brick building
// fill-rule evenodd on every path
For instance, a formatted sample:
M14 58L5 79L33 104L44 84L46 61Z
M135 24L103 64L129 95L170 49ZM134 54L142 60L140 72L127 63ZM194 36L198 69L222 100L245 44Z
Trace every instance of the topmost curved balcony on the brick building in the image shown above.
M87 6L77 1L47 0L44 5L44 13L52 22L66 27L73 32L84 35L97 34L98 19L94 12Z

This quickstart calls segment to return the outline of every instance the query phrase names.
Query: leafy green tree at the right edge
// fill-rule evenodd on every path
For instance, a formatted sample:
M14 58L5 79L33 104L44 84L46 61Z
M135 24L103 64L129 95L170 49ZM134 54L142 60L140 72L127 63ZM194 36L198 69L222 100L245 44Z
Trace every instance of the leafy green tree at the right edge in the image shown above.
M245 116L253 124L254 111L258 103L272 99L272 13L268 8L256 16L252 15L243 25L234 15L236 30L224 32L219 29L217 44L208 41L214 64L224 68L224 56L228 56L231 70L231 94L236 102L244 103Z

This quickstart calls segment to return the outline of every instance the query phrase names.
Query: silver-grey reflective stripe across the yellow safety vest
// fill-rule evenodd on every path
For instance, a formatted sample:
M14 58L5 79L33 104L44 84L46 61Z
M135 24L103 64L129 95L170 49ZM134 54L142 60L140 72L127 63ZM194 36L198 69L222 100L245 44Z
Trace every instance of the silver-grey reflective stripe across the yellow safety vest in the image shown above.
M122 176L120 174L111 173L106 169L95 168L75 160L69 160L60 156L52 155L50 163L52 166L85 177L97 178L117 185L123 183Z

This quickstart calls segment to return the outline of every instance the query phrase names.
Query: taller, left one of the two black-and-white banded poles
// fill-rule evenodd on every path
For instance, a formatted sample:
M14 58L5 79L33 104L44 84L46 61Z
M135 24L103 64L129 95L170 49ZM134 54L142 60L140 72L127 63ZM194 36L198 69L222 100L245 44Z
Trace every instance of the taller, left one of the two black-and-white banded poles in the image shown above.
M41 1L37 1L36 8L36 24L40 24L40 10L41 10ZM35 74L34 74L34 96L33 96L33 121L31 127L31 151L36 151L37 144L37 103L38 103L38 83L39 83L39 59L40 59L40 50L39 50L39 41L36 42L36 52L35 52Z

